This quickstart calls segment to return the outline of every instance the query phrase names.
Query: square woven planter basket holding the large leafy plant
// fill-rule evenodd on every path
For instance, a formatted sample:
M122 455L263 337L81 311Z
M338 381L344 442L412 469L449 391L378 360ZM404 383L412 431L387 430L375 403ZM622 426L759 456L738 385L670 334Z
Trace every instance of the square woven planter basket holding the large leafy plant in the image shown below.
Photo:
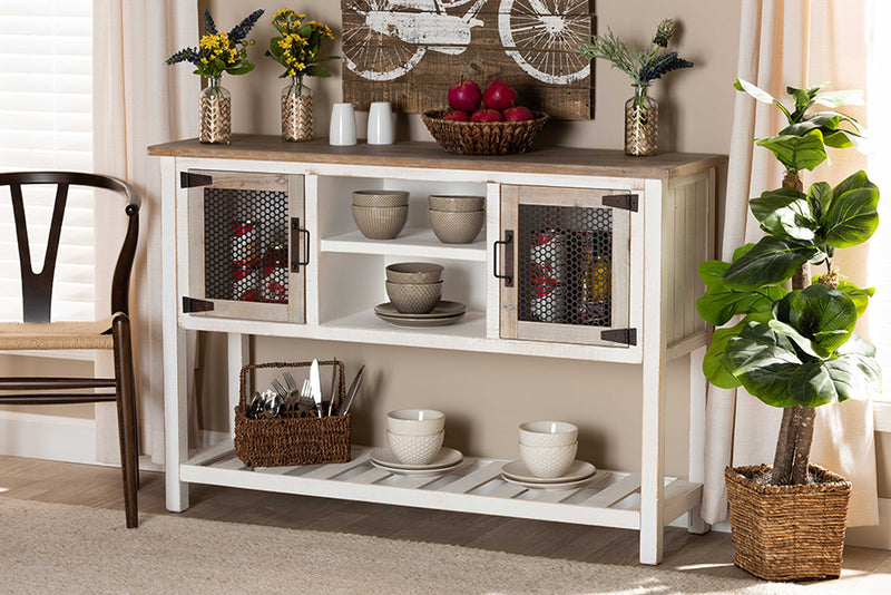
M836 578L842 570L851 482L811 465L815 484L768 486L770 465L724 470L733 562L766 581Z

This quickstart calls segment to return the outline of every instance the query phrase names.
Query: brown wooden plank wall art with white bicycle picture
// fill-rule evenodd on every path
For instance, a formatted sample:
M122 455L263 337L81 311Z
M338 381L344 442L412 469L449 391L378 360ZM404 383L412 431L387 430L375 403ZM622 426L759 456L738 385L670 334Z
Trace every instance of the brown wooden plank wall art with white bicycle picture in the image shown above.
M503 78L523 105L590 119L590 61L572 52L594 28L591 0L342 0L343 100L401 111L448 107L461 78Z

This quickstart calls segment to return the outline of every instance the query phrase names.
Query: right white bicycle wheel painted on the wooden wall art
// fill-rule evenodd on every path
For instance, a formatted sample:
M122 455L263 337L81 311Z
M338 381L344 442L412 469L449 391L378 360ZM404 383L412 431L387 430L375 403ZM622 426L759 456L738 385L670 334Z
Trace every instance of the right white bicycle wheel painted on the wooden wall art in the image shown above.
M590 75L590 60L571 50L590 36L590 16L572 11L588 0L501 0L498 31L508 56L529 76L567 85ZM559 50L559 51L555 51Z

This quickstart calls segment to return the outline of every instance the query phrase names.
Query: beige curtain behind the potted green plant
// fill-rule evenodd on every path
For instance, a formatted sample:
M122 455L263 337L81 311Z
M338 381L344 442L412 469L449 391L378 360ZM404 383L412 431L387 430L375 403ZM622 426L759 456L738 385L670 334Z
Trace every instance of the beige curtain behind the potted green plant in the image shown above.
M786 103L787 85L831 81L834 89L863 89L866 85L866 2L862 0L743 0L738 76ZM846 109L861 121L864 113ZM773 155L754 147L752 139L772 136L784 119L774 106L736 95L727 173L721 256L761 237L748 199L779 187L782 167ZM869 124L869 123L866 123ZM831 165L805 176L835 184L858 168L865 157L853 149L830 149ZM858 252L859 251L859 252ZM865 283L865 248L840 251L836 264L854 283ZM737 398L738 393L738 398ZM708 388L706 474L703 517L724 520L727 497L724 467L773 462L781 409L767 407L743 389ZM870 401L845 401L817 409L811 459L852 480L854 491L849 526L878 524L875 448Z

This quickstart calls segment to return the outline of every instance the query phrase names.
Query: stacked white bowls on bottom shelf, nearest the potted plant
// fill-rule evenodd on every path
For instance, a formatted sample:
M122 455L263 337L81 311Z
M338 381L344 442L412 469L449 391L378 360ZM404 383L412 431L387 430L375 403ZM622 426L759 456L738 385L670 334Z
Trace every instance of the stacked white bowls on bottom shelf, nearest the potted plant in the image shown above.
M578 451L578 427L565 421L520 423L520 458L536 477L564 475Z

